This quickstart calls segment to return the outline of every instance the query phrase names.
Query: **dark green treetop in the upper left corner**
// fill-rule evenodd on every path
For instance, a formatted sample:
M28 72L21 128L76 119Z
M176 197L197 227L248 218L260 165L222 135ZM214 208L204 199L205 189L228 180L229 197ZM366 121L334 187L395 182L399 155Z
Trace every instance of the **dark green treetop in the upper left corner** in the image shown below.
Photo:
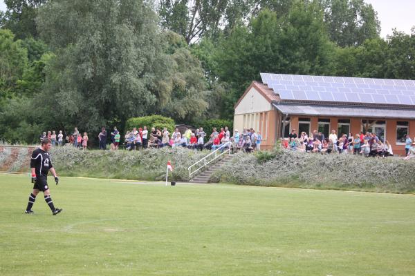
M1 19L0 26L10 29L17 39L37 37L35 19L37 8L47 0L5 0L6 12Z

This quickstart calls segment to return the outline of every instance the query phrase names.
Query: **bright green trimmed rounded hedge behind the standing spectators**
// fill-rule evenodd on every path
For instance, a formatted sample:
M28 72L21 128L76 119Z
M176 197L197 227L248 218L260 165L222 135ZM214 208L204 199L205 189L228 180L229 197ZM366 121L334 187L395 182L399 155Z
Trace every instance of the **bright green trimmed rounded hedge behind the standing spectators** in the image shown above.
M133 128L142 128L147 126L147 129L150 128L167 128L170 133L174 131L174 120L169 117L163 117L160 115L151 115L145 117L134 117L127 120L125 123L125 132L132 130Z

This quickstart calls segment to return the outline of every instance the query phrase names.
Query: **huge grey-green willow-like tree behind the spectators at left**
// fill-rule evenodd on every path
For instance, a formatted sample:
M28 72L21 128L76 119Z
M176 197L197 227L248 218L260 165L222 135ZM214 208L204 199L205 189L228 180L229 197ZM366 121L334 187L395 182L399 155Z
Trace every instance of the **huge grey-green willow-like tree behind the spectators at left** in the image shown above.
M55 52L45 68L42 99L50 126L98 130L110 121L147 115L167 66L156 14L136 0L50 1L37 18ZM59 115L59 116L56 116Z

